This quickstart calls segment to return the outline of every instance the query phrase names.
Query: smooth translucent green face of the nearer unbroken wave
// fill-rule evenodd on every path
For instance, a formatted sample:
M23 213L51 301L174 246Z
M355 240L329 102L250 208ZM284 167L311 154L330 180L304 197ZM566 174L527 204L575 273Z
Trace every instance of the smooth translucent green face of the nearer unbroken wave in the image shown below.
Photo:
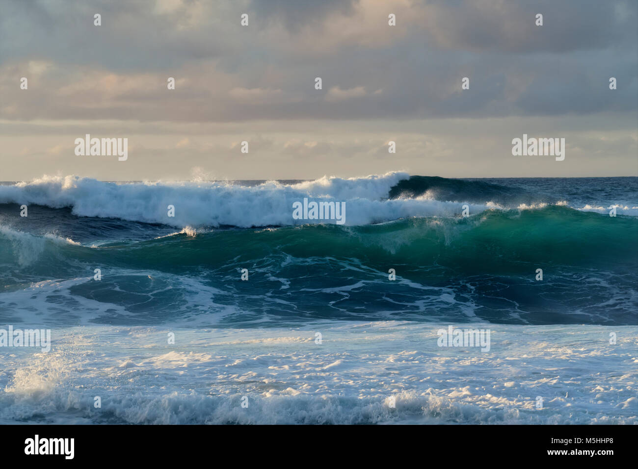
M638 219L546 206L355 227L186 229L152 240L110 242L101 247L80 246L59 236L0 231L0 262L47 271L60 261L63 268L65 260L181 271L273 254L355 258L379 268L436 265L464 273L520 273L530 263L618 270L635 266L638 259Z

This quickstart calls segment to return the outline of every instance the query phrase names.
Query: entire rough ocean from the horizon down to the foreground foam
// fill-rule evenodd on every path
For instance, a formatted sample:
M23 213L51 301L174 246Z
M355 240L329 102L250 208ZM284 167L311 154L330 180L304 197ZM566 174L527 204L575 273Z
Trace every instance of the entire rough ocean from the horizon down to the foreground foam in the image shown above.
M638 178L4 182L9 326L0 423L638 424Z

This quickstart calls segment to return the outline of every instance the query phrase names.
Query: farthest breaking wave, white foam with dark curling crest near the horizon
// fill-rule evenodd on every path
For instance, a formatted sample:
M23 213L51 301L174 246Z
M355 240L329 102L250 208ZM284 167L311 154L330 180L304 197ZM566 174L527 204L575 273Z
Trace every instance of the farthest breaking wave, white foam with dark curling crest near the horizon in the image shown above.
M203 226L292 226L336 220L293 218L293 203L344 202L347 226L410 217L470 216L488 208L531 210L564 201L481 181L410 177L391 172L360 178L323 177L284 184L237 182L101 182L77 176L45 176L33 182L0 185L0 204L19 203L71 208L74 215L121 219L179 228ZM638 215L633 205L586 205L582 211ZM169 216L174 207L174 216ZM171 214L172 215L172 214Z

